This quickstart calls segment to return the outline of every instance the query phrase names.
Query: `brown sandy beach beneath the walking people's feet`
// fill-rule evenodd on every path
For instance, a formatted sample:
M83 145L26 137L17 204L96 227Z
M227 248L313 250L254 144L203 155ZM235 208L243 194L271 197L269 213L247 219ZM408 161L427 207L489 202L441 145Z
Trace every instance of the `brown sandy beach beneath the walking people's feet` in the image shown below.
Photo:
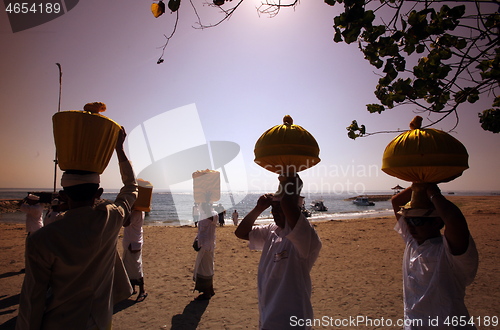
M447 197L466 215L479 251L479 270L467 288L466 304L470 314L484 323L500 317L500 196ZM315 329L333 329L335 322L358 316L370 318L372 324L340 328L400 328L386 326L403 317L404 245L394 224L393 217L315 223L323 249L311 274L312 303L315 318L328 320ZM132 296L115 306L113 329L256 329L260 252L250 251L234 236L234 229L217 228L216 295L210 301L194 301L196 252L191 244L196 228L145 227L143 260L149 296L141 303L134 303ZM0 329L11 329L24 278L20 270L25 232L19 224L0 224L0 230Z

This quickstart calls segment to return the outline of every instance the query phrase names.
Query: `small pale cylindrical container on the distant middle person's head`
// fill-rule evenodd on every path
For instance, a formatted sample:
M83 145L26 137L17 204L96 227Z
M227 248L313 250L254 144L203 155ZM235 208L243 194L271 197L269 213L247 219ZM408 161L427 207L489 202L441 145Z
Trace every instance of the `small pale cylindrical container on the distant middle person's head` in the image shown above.
M193 193L196 203L215 202L220 199L220 172L212 170L193 173Z

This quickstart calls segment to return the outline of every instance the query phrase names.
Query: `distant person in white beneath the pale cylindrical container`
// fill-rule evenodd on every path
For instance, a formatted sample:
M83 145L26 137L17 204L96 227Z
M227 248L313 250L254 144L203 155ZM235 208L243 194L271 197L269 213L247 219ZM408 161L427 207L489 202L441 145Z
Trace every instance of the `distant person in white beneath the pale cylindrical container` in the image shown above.
M198 290L200 295L197 300L208 300L215 295L214 277L214 250L215 250L215 228L219 216L209 203L200 205L200 220L198 222L198 235L195 239L197 245L196 262L193 272L195 281L194 290ZM193 291L194 291L193 290Z

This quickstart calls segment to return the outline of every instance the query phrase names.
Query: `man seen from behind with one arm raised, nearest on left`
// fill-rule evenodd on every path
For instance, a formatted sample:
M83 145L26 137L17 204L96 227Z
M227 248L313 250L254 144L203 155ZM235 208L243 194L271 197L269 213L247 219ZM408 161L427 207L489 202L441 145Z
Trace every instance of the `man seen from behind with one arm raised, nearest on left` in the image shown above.
M97 173L63 174L59 194L69 210L26 241L16 329L111 329L113 305L132 293L116 248L137 198L125 136L122 128L115 150L123 187L114 202L95 203L103 192Z

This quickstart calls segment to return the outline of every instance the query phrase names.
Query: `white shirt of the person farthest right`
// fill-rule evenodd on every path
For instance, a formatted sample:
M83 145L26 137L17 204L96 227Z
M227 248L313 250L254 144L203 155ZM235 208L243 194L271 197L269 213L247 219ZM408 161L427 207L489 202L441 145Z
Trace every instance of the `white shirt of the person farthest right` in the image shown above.
M453 316L466 317L465 287L472 283L478 267L478 253L472 237L464 254L451 254L446 237L436 237L418 245L408 231L404 217L394 228L406 242L403 256L403 293L405 319L422 320L418 329L436 329ZM420 322L420 321L417 321ZM416 327L406 326L405 329ZM466 326L460 329L475 329Z

